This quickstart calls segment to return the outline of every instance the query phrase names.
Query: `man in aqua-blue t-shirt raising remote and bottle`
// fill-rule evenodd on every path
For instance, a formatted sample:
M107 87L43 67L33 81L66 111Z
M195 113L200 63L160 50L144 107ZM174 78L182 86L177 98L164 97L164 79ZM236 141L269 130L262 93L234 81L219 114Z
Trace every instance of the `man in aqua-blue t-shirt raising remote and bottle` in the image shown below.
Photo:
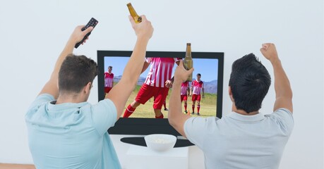
M30 152L36 168L121 168L107 130L114 126L133 92L145 61L153 27L129 17L137 35L123 76L104 100L87 102L97 63L73 55L73 48L93 27L78 26L56 61L54 71L25 115Z

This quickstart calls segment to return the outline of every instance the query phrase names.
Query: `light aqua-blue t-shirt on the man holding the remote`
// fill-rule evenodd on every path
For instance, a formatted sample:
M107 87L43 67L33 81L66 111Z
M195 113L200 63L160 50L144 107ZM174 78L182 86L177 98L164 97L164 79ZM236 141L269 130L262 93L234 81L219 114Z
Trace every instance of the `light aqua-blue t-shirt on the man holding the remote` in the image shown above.
M36 168L121 168L107 130L116 122L109 99L53 104L40 94L25 115L30 152Z

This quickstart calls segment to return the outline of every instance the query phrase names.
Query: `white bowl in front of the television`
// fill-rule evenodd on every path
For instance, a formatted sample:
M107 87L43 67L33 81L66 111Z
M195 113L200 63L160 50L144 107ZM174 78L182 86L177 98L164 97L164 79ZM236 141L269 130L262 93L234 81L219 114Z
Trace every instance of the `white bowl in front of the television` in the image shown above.
M170 134L150 134L144 139L148 148L154 151L167 151L176 144L176 137Z

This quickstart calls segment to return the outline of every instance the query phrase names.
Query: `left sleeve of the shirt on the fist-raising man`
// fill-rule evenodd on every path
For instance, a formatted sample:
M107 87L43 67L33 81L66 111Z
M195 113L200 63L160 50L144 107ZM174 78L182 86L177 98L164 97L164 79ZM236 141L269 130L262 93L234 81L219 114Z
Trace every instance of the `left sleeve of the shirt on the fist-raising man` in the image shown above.
M184 123L184 133L187 139L200 148L203 146L206 123L206 118L198 117L188 118Z

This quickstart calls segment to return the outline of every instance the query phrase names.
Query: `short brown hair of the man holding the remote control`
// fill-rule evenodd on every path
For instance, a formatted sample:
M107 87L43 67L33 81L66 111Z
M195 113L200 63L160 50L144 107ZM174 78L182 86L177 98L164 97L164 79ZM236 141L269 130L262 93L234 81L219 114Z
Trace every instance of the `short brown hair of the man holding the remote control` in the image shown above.
M59 70L59 92L79 93L97 74L97 63L91 58L69 54Z

